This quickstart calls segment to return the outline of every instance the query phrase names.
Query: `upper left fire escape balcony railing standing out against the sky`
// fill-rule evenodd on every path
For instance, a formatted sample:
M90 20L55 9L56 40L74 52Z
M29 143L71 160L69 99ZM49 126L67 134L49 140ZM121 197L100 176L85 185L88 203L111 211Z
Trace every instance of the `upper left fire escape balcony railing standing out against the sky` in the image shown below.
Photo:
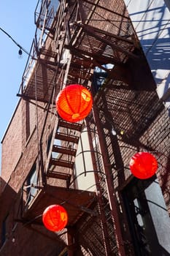
M39 101L48 102L48 99L50 98L52 80L55 76L55 69L56 66L58 66L58 61L55 59L57 52L55 48L51 47L51 43L53 42L53 23L55 23L54 18L56 10L51 6L51 4L48 4L48 1L43 1L41 7L39 7L39 4L40 2L38 2L35 11L35 37L31 45L31 51L28 56L26 68L23 72L18 96L25 99L37 99ZM45 69L47 70L46 77L44 72ZM38 88L39 97L36 97L35 95L35 75L39 77L39 85L41 83L41 86L39 86L40 88ZM48 92L46 91L46 95L49 94L48 98L43 94L42 83L45 84L44 87L47 86Z

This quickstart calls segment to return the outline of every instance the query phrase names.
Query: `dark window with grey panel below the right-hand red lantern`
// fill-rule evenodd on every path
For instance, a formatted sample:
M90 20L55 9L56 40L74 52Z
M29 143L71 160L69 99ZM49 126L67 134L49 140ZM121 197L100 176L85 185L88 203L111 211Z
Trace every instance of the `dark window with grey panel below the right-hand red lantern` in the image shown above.
M170 220L158 181L135 178L123 198L136 255L169 255Z

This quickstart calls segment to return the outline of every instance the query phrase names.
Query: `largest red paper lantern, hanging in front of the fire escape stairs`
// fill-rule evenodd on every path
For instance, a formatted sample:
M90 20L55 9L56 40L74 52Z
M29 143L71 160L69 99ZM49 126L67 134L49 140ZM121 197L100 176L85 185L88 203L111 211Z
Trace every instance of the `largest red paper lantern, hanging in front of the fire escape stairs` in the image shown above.
M90 91L79 84L66 86L55 102L58 114L66 121L77 122L88 116L93 105Z

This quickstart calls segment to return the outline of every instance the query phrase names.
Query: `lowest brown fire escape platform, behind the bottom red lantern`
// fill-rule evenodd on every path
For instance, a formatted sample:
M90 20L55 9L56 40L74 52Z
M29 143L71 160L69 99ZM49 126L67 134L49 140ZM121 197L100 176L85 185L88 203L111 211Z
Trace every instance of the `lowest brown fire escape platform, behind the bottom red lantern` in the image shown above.
M42 224L42 213L47 206L59 204L66 208L69 226L74 225L82 216L84 209L90 208L96 200L94 192L77 189L47 186L41 189L23 211L23 221ZM87 210L88 211L88 210ZM38 217L38 218L37 218Z

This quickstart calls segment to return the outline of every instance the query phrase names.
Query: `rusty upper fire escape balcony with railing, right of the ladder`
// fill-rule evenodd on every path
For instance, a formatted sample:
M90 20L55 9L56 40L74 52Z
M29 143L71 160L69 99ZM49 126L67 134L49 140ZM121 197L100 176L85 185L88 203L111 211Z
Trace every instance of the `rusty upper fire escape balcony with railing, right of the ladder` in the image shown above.
M137 39L128 15L109 10L104 3L76 1L66 27L66 48L74 55L92 59L93 64L117 64L129 57L137 58L133 53Z

